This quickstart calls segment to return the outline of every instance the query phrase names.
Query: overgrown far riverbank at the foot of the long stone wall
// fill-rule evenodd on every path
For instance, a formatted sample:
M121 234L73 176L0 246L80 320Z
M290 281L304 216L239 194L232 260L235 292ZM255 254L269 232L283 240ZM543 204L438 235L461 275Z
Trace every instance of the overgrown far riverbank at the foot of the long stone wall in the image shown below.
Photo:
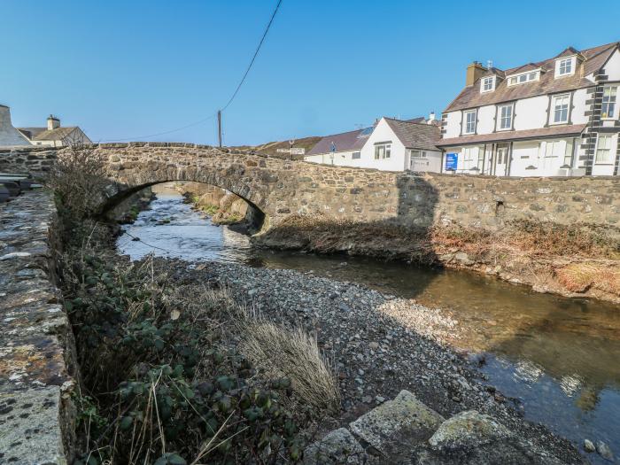
M272 249L347 253L470 269L532 290L620 303L617 228L514 221L498 233L451 224L404 228L293 216L253 236Z

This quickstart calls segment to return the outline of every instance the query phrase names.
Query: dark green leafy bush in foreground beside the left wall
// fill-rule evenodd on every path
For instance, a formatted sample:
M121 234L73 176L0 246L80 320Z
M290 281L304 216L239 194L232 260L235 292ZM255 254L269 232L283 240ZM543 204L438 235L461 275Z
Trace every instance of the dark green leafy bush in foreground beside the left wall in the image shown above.
M179 311L167 277L88 253L68 260L65 306L85 386L84 450L77 463L296 461L302 444L287 411L291 380L257 383L242 355L199 321L221 318L225 293ZM213 309L213 313L211 310ZM233 308L232 312L238 312ZM174 452L173 452L174 451Z

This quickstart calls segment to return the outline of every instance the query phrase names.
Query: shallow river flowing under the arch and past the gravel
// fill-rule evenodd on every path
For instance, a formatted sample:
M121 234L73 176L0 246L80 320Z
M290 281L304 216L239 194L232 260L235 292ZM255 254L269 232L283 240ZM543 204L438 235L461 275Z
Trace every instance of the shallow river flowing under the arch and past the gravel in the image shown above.
M465 329L459 345L486 354L480 369L490 384L515 398L526 418L546 424L582 451L589 438L620 454L620 306L539 294L464 271L266 251L252 247L247 236L213 225L172 190L160 189L151 209L124 230L131 236L120 236L117 245L133 260L153 252L313 270L444 308ZM596 454L589 458L609 463Z

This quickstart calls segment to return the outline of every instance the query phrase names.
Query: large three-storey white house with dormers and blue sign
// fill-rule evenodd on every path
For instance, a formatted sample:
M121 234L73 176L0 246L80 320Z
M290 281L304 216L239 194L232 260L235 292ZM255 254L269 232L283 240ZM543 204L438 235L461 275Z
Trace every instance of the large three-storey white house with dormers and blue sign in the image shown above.
M444 169L617 175L620 43L501 70L477 62L442 117Z

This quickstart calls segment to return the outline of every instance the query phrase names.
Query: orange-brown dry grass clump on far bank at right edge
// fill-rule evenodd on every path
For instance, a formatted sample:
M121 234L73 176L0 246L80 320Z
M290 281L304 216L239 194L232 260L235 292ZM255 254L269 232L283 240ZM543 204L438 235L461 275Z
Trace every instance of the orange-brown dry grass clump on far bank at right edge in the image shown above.
M558 281L571 292L590 288L620 295L620 270L599 263L572 263L555 270Z

